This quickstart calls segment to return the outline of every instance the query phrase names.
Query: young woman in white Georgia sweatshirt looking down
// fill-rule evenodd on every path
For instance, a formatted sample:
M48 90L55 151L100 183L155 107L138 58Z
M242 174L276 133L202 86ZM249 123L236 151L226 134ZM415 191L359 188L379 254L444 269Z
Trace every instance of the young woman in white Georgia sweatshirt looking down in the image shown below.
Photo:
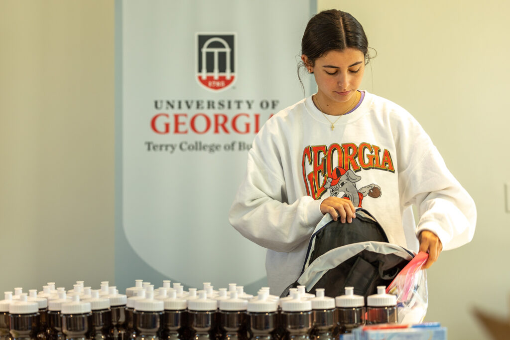
M429 136L409 112L359 89L370 60L360 23L342 11L320 12L301 48L300 66L314 75L317 93L264 124L229 216L268 249L271 291L298 278L324 214L350 223L356 207L367 209L391 243L429 253L425 268L442 250L469 242L474 202Z

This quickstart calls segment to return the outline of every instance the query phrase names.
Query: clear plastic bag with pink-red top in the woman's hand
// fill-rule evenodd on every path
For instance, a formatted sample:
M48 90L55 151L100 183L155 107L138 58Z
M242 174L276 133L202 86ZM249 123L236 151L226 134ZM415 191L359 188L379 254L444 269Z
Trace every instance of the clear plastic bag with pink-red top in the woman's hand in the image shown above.
M386 293L397 296L400 324L417 324L425 318L428 307L427 273L421 268L427 260L428 254L419 252L386 288Z

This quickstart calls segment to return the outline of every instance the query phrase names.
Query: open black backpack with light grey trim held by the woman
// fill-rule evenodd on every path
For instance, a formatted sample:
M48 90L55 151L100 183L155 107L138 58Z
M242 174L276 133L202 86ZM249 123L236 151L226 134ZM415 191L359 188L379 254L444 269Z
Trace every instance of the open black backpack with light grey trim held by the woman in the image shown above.
M343 295L345 287L351 286L354 294L366 299L377 293L377 286L388 286L413 257L411 251L388 242L367 210L357 208L352 223L333 221L327 214L310 237L301 275L281 297L298 285L313 294L316 288L324 288L329 297Z

